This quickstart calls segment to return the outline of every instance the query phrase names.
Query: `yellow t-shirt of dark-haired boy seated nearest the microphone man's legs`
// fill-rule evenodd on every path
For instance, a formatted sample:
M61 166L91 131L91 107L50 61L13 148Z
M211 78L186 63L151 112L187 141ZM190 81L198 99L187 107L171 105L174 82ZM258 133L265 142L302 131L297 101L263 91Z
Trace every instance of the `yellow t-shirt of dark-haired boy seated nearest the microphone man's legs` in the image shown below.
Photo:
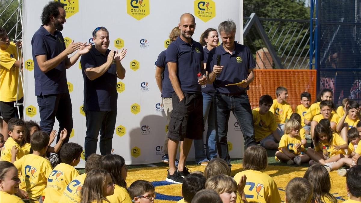
M261 115L260 109L255 108L252 110L252 115L256 142L261 141L277 129L277 123L272 112L268 111L265 115Z

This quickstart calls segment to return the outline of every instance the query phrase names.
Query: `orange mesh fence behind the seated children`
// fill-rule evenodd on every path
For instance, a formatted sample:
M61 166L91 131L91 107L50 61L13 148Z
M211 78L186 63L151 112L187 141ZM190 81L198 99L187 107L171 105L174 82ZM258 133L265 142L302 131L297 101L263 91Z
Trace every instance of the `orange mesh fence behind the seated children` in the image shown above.
M316 99L316 70L255 69L255 80L247 91L252 109L258 107L262 95L268 94L276 99L279 86L287 88L287 102L294 112L300 104L302 92L311 94L311 103Z

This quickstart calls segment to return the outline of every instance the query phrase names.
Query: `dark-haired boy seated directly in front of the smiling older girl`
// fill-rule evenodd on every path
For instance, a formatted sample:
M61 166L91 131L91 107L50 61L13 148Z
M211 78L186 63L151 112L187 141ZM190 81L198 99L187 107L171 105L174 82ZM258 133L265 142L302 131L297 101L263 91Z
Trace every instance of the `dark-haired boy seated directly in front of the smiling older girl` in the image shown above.
M332 113L332 102L331 101L322 101L319 103L319 108L321 109L321 114L313 117L311 121L311 138L313 138L313 131L315 126L319 123L319 121L323 118L330 120L331 129L333 131L336 130L336 125L339 121L339 116L335 113Z

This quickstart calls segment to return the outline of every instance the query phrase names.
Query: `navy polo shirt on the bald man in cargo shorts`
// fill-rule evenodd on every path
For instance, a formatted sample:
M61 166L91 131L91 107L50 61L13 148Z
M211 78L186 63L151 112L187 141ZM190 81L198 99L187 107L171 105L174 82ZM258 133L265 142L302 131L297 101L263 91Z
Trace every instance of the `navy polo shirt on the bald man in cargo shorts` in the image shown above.
M178 37L169 44L166 50L166 62L175 62L178 66L177 77L182 91L201 94L197 74L203 67L203 47L192 39L192 43L184 42Z

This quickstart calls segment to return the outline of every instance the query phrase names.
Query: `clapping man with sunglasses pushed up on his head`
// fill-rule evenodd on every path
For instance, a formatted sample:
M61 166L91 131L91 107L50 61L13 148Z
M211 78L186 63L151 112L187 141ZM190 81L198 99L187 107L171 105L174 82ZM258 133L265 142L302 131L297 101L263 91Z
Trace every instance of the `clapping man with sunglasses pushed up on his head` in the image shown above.
M109 50L109 32L105 27L93 31L90 52L81 57L84 79L84 112L87 121L85 159L96 153L100 131L101 155L112 153L112 139L117 118L117 78L125 77L121 60L127 50Z

